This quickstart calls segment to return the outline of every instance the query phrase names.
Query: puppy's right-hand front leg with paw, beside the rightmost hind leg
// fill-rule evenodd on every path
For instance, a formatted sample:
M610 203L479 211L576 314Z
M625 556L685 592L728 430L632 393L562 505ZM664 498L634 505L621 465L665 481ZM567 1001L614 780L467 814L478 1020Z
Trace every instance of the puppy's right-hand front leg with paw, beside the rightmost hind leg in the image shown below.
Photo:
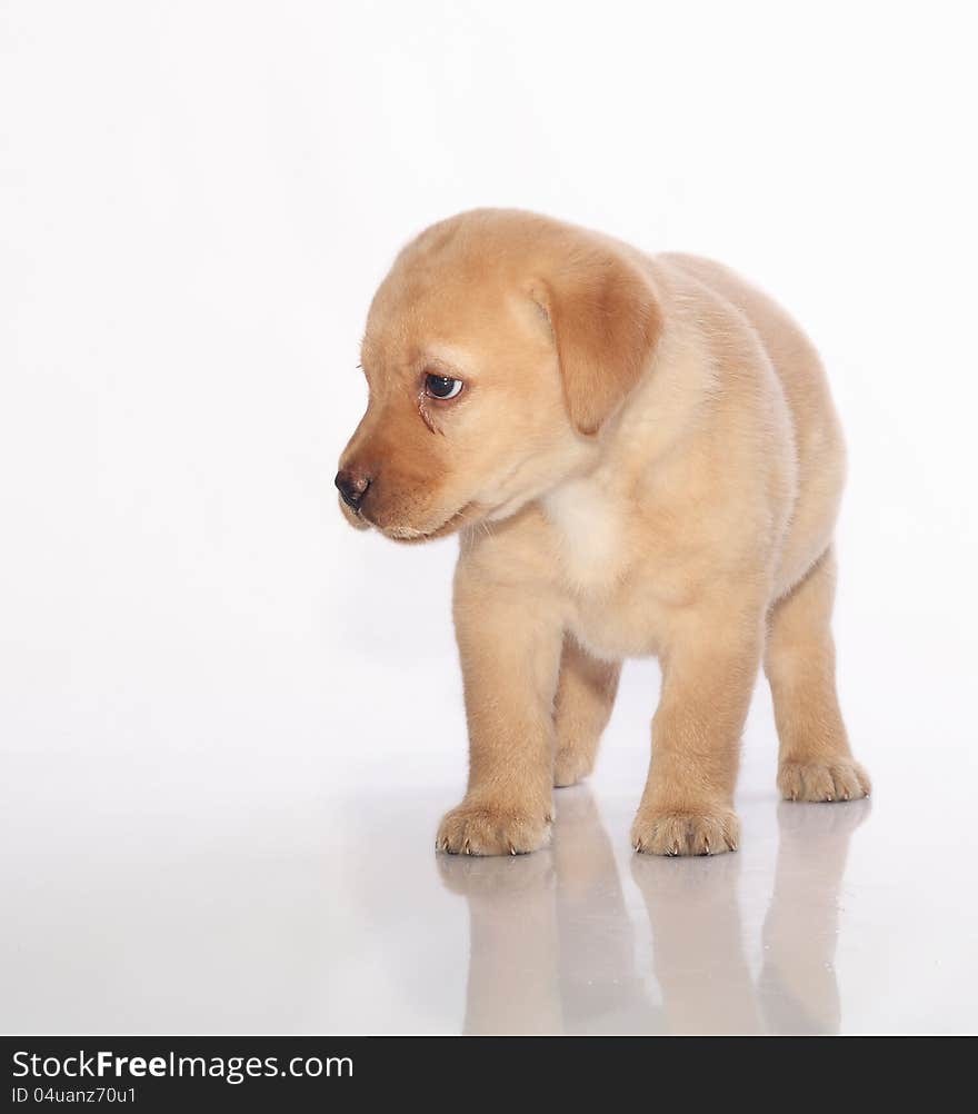
M636 851L736 850L733 792L761 656L763 606L730 603L677 618L663 655L648 782L632 828Z

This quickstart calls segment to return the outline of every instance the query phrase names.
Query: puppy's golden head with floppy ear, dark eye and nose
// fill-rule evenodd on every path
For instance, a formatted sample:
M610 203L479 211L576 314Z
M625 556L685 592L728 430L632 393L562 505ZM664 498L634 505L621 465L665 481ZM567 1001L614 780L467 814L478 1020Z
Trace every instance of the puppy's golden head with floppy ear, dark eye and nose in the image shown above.
M418 541L518 510L590 458L659 324L626 250L583 229L506 209L428 228L370 309L346 518Z

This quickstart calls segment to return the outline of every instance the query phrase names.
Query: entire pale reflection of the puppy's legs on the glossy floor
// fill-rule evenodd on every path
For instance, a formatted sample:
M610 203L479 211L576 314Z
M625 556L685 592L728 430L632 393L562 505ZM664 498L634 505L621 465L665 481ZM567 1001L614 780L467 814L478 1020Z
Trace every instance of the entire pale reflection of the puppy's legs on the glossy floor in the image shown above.
M567 794L552 850L441 857L442 880L469 903L463 1032L838 1033L838 896L850 837L868 811L869 802L779 811L756 985L744 952L736 858L712 866L634 860L662 1005L637 961L614 852L585 786Z

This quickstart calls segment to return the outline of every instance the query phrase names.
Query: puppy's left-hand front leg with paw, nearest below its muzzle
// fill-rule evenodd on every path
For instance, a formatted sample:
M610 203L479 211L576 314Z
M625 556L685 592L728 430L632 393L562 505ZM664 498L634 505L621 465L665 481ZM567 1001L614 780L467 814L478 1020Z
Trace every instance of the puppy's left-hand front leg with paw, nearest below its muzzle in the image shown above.
M469 724L469 788L441 821L450 854L520 854L550 837L554 693L563 623L546 593L460 565L454 624Z

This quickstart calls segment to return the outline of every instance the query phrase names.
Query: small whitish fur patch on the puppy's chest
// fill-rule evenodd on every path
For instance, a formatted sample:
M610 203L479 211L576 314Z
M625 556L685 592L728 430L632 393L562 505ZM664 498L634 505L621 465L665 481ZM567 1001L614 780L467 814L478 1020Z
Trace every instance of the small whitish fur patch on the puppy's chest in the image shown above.
M600 588L622 560L620 504L593 479L569 480L541 500L557 531L565 575L579 588Z

